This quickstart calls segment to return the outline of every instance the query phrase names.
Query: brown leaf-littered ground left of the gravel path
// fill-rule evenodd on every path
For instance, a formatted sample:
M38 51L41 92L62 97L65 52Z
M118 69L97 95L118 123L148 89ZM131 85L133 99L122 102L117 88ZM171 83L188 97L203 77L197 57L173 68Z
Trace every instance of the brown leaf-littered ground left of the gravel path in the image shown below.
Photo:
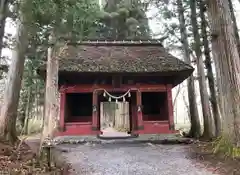
M17 146L11 146L6 142L0 142L0 174L25 175L25 174L60 174L61 169L52 167L49 171L44 160L38 161L36 153L38 144L29 146L22 142Z

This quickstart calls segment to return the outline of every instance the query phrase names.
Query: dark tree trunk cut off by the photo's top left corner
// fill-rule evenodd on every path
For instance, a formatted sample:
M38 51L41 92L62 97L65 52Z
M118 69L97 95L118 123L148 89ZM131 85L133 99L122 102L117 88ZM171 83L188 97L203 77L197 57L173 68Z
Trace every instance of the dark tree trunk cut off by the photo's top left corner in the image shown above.
M5 23L8 13L9 0L1 0L0 2L0 55L2 55L3 37L5 31Z

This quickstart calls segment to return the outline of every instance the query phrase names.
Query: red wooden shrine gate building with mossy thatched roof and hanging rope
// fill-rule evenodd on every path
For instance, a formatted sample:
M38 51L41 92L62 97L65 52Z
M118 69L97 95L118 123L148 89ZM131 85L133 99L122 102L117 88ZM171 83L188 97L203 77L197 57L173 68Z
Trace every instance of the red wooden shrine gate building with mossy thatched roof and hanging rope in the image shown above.
M100 103L106 101L128 102L130 134L173 133L172 89L193 70L158 40L69 44L59 58L56 135L101 134Z

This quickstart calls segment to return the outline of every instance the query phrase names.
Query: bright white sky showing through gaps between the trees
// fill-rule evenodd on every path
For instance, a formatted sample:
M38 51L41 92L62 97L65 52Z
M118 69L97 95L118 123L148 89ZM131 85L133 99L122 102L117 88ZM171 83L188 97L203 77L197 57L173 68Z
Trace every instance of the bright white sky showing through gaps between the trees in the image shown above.
M238 27L240 28L240 21L238 20L238 19L240 19L240 4L239 4L238 0L233 0L233 4L234 4L235 12L236 12ZM151 11L149 11L147 13L147 15L150 17L150 16L154 16L156 13L157 13L157 9L151 9ZM153 33L159 33L162 29L161 22L157 21L156 19L151 19L149 21L149 25L150 25L150 28L152 29ZM12 34L12 35L16 34L16 27L14 26L13 23L10 22L10 20L7 20L5 32ZM11 50L10 49L3 49L2 54L3 54L3 56L8 56L11 59ZM181 55L177 54L176 52L172 53L172 54L177 57L181 57ZM196 90L197 90L198 83L196 82L195 85L196 85ZM173 99L175 98L177 88L178 87L173 89ZM184 97L187 100L187 91L186 91L186 87L184 86L184 83L183 83L183 86L181 87L180 95L177 98L177 103L175 106L175 122L177 122L177 123L185 123L188 120L187 108L186 108L186 105L184 104ZM200 97L197 99L197 101L198 101L198 104L200 104ZM198 105L198 106L199 106L199 112L201 112L201 106L200 105Z

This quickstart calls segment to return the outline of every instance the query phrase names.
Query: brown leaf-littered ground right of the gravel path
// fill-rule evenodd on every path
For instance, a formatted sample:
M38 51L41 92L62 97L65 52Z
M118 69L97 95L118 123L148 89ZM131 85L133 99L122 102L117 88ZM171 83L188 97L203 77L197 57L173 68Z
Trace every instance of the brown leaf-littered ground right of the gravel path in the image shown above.
M240 160L213 154L211 143L197 142L190 147L191 158L219 175L240 175Z

